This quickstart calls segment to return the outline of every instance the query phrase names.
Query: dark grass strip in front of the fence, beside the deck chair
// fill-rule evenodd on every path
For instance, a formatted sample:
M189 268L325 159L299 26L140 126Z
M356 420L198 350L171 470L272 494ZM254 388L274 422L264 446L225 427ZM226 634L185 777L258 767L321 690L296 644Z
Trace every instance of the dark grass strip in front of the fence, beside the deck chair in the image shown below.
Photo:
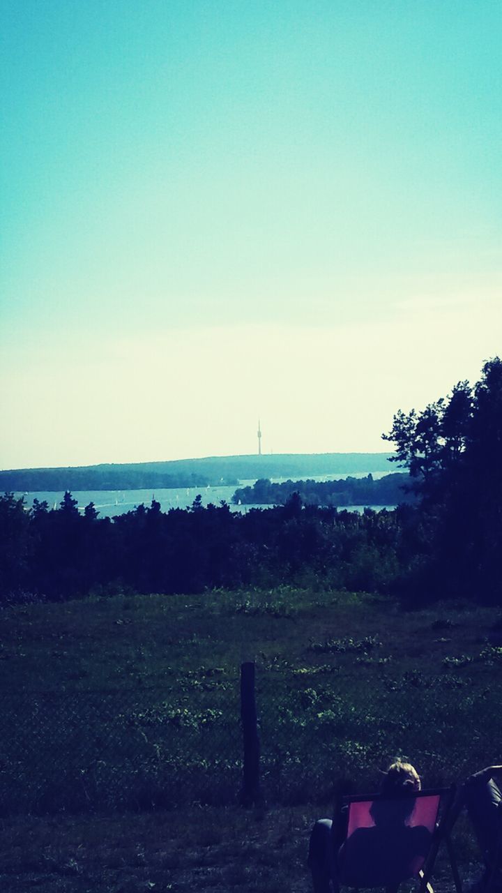
M311 807L205 807L175 814L18 818L2 825L3 893L306 893ZM463 827L460 827L460 826ZM456 833L463 880L479 871L464 822ZM436 893L453 890L446 853ZM410 888L413 889L413 888Z

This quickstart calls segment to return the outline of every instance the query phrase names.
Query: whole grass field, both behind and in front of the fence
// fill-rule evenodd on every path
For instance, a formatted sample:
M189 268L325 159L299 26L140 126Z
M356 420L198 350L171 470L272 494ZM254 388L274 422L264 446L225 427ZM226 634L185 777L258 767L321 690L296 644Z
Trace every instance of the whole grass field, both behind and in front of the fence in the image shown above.
M493 609L284 588L13 606L0 623L3 891L306 890L308 831L340 779L374 789L396 755L429 786L500 761ZM266 805L246 811L252 659ZM471 875L464 820L456 852Z

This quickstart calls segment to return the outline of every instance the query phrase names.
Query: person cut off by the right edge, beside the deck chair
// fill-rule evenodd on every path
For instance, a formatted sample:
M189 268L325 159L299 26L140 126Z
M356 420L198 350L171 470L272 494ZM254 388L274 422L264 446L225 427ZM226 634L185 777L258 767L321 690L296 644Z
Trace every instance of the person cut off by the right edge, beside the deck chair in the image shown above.
M502 793L493 778L498 773L502 773L502 765L486 766L480 772L474 772L464 781L460 795L473 823L485 864L473 893L485 889L489 881L490 890L502 893Z

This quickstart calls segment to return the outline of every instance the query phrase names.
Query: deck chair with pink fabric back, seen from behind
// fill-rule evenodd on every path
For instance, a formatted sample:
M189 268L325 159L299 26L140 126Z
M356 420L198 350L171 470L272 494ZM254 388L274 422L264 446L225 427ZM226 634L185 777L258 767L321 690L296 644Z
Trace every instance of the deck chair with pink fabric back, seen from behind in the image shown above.
M347 835L339 847L335 893L340 886L385 887L396 893L416 878L419 893L433 893L429 879L441 842L448 847L457 893L462 885L449 838L448 812L455 789L415 791L406 797L342 797L347 806ZM339 803L340 805L340 803Z

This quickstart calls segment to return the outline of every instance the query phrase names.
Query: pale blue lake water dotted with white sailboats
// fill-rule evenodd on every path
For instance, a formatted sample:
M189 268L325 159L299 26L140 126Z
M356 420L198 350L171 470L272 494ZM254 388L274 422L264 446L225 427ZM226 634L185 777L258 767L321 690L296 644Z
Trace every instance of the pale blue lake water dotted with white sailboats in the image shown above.
M373 478L376 480L377 478L383 478L386 474L391 472L372 472ZM351 473L350 477L352 478L365 478L368 472L356 472ZM328 475L328 476L309 476L309 480L340 480L342 478L346 478L347 474L336 474L336 475ZM274 483L281 483L282 481L288 480L287 478L272 478ZM255 479L253 480L241 480L238 484L239 487L252 487L255 483ZM202 505L209 505L209 503L213 503L213 505L220 505L222 500L227 502L230 505L230 508L233 512L247 512L250 508L270 508L269 505L232 505L231 498L233 497L237 487L191 487L191 488L169 488L169 489L158 489L158 490L75 490L72 492L72 497L77 499L79 503L79 509L83 511L84 507L88 505L90 502L93 502L96 511L99 512L100 517L110 517L113 518L116 514L123 514L124 512L130 512L132 509L136 508L137 505L150 505L152 499L156 499L157 502L161 504L161 509L163 512L168 512L170 508L188 508L192 505L194 499L200 494L202 499ZM24 497L26 505L33 505L33 500L38 499L39 502L46 500L49 505L49 508L57 508L63 499L62 491L48 491L48 492L36 492L36 493L15 493L16 497ZM344 506L339 506L339 508L343 508ZM364 505L347 505L348 509L352 512L362 512L364 510ZM381 509L385 508L394 508L393 505L373 505L369 506L370 508Z

